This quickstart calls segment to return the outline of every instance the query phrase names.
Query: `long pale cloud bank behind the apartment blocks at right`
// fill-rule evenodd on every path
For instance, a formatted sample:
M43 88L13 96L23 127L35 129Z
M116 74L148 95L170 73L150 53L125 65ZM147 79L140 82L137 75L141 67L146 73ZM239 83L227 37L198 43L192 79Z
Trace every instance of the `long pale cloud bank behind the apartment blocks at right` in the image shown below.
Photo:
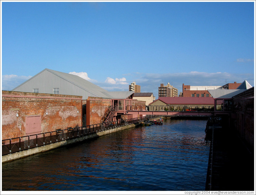
M252 86L254 84L254 74L231 74L228 72L180 72L165 74L141 74L132 78L136 84L141 86L141 92L152 92L158 97L158 87L161 83L165 85L170 82L173 87L182 92L182 84L191 86L222 86L227 83L242 83L247 80Z

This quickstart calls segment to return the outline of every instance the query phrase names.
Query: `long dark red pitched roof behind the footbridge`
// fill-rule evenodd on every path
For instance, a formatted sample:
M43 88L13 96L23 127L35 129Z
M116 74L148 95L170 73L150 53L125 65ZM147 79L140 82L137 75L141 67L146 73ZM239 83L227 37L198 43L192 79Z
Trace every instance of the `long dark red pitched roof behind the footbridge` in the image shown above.
M214 100L212 97L159 97L158 100L170 104L170 105L184 105L184 104L214 104ZM155 100L157 101L157 100ZM154 103L153 101L152 103ZM152 104L150 103L150 104Z

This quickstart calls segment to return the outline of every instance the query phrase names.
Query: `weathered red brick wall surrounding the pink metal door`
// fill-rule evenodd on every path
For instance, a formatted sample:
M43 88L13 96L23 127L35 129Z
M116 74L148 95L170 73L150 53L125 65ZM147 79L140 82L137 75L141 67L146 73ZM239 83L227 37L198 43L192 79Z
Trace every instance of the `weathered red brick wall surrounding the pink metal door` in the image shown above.
M26 116L32 115L41 116L42 133L80 127L82 96L2 91L3 140L26 136Z

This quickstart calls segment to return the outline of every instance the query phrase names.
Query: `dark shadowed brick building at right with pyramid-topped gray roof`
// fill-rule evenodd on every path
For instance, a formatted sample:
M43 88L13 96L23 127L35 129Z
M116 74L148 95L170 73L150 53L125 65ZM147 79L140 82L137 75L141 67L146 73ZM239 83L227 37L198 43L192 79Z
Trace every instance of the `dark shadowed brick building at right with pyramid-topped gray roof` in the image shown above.
M254 87L247 81L241 84L244 89L209 90L214 99L216 116L229 119L232 133L236 133L248 149L254 147ZM249 89L247 89L249 88Z

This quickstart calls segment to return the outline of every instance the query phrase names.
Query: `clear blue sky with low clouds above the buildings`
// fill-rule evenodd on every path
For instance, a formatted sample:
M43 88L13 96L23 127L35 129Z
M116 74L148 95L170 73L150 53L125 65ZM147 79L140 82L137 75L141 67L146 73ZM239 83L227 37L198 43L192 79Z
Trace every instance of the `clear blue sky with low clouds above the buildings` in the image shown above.
M255 1L1 3L2 90L45 68L156 98L160 83L255 83Z

